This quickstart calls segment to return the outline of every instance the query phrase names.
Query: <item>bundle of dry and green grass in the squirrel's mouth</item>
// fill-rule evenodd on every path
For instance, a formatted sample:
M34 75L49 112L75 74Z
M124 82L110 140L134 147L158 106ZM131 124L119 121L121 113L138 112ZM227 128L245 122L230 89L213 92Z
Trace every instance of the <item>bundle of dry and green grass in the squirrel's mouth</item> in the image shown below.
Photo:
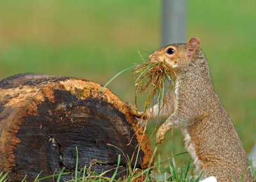
M170 85L166 80L173 84L175 80L175 72L163 62L136 64L132 70L132 77L135 80L136 96L138 93L146 91L147 100L145 102L144 111L154 106L154 98L157 97L157 102L160 105L168 100L168 93L164 93L164 87L170 89Z

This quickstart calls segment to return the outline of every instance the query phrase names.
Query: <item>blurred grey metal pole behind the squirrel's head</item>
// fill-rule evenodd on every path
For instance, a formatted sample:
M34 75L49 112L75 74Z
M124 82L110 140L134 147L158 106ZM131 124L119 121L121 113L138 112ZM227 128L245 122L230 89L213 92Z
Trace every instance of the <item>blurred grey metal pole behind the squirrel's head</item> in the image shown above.
M162 45L185 43L186 0L163 0Z

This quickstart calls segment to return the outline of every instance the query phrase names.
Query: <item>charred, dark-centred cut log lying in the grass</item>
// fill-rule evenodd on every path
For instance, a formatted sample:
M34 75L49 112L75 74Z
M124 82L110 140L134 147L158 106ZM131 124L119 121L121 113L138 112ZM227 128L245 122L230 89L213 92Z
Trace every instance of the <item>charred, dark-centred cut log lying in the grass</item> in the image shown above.
M146 169L152 158L147 134L124 103L101 88L88 80L33 73L0 80L0 172L8 172L11 181L33 181L40 171L40 177L50 176L63 167L74 174L76 147L78 169L114 169L105 174L111 177L118 155L118 177L127 175L127 156L132 168Z

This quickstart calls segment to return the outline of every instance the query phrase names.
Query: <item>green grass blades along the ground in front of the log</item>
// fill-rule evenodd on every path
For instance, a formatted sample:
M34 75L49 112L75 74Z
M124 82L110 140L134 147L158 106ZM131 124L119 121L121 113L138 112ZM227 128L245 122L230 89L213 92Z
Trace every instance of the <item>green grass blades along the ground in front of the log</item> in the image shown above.
M77 151L77 148L76 148ZM156 154L156 150L154 152L154 154ZM151 162L149 163L149 167L148 169L144 169L143 171L141 171L140 169L137 169L138 172L136 172L136 169L131 169L131 163L129 163L127 165L127 171L131 171L131 174L128 175L125 179L116 179L116 174L118 174L118 167L120 164L120 155L118 155L118 163L115 167L115 172L113 174L113 176L111 176L110 178L104 176L105 172L102 172L101 174L98 174L97 172L91 172L90 171L90 166L86 167L84 166L82 169L77 169L77 165L79 162L79 156L77 154L77 158L76 158L76 170L74 172L74 176L72 176L72 174L70 174L69 172L64 172L65 168L63 168L60 171L60 174L52 174L51 176L46 176L44 178L40 178L40 174L42 172L40 172L38 174L38 176L36 176L34 182L37 181L44 181L45 179L52 179L52 178L56 178L57 177L57 182L60 181L65 181L63 179L61 179L61 176L65 175L69 175L70 177L72 177L72 179L70 179L69 181L74 181L74 182L88 182L88 181L110 181L110 182L117 182L117 181L124 181L124 182L128 182L131 181L132 179L135 178L141 178L141 176L143 174L145 174L145 178L144 181L191 181L191 182L197 182L200 179L201 175L195 175L193 170L193 165L191 164L191 160L188 161L188 163L186 163L186 155L188 155L186 152L184 153L180 153L177 155L172 155L164 160L160 160L160 155L158 155L159 161L151 166ZM182 164L179 166L176 164L175 159L181 157L182 158ZM163 165L161 165L163 162L168 163L168 167L166 168L162 168ZM93 163L94 164L94 163ZM92 164L92 165L93 165ZM151 167L150 167L151 166ZM128 174L128 172L127 172ZM7 173L0 174L0 182L1 181L5 181L7 178ZM26 176L24 177L24 179L22 180L22 182L26 182Z

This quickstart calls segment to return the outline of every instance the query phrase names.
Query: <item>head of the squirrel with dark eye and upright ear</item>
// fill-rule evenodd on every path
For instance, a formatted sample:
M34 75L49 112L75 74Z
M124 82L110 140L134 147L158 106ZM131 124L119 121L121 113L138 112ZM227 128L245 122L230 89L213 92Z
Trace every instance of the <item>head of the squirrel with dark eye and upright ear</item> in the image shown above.
M164 62L171 69L179 69L192 59L200 47L199 38L191 38L188 43L173 43L156 50L148 56L151 62Z

